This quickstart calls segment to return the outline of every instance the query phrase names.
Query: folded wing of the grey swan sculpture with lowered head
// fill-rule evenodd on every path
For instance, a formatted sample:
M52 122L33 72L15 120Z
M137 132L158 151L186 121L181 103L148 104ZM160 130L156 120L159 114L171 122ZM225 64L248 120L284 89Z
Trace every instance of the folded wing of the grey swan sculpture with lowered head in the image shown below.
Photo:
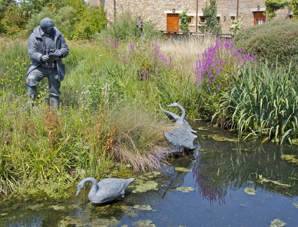
M111 201L123 195L125 189L125 179L106 178L97 183L98 191L96 193L97 199L100 203Z

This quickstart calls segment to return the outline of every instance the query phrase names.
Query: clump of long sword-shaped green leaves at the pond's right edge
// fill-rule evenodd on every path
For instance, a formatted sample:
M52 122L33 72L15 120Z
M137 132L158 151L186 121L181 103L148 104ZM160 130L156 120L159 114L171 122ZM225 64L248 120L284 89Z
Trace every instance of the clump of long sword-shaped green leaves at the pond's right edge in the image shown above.
M221 99L218 123L236 129L239 138L266 136L280 141L297 138L298 86L291 67L271 71L267 64L243 66ZM220 114L220 115L218 115Z

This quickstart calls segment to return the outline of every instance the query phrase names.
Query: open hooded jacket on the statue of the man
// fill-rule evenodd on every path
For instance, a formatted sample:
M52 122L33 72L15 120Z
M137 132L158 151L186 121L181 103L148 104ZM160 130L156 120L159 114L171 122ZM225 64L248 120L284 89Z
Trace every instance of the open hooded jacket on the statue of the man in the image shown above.
M62 63L61 58L66 57L68 55L68 46L66 44L63 34L56 27L54 27L53 36L55 50L60 50L63 53L63 55L59 57L57 60L58 78L59 81L62 81L65 76L65 65ZM46 46L40 34L40 26L37 26L33 30L28 40L28 55L32 60L32 65L30 65L28 69L27 76L33 69L36 69L43 63L41 57L45 54Z

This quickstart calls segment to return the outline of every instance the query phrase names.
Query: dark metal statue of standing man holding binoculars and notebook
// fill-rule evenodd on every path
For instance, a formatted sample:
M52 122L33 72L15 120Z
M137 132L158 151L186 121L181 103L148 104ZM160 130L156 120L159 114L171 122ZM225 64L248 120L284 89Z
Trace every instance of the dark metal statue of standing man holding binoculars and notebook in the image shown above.
M68 55L68 51L65 38L54 27L53 21L50 18L42 19L28 40L28 55L32 64L27 72L26 84L32 105L36 97L36 86L47 77L51 106L59 108L59 89L65 76L62 58Z

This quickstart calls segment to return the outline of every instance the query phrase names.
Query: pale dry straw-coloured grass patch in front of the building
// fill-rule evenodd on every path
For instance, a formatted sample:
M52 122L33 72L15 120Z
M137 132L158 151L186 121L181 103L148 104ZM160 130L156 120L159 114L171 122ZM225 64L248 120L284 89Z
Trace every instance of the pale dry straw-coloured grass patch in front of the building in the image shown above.
M160 40L160 52L173 59L174 68L185 75L193 75L198 56L215 43L215 36L190 36L186 40ZM196 78L195 78L196 79Z

